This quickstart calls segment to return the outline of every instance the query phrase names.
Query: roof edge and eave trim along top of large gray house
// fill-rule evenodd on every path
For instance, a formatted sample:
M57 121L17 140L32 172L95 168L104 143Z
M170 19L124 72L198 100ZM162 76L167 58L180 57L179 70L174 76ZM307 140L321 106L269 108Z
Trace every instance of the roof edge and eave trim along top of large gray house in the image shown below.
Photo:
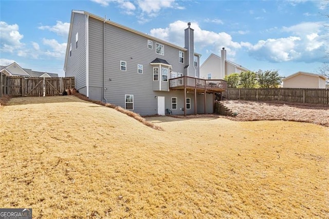
M186 48L183 48L183 47L177 46L175 44L169 43L167 41L158 39L158 38L156 38L154 36L151 36L151 35L149 35L147 33L143 33L143 32L140 32L138 30L134 30L134 29L132 29L130 27L123 26L123 25L118 24L118 23L115 23L113 21L105 20L104 17L100 17L100 16L97 16L95 14L89 13L87 11L80 11L80 10L72 10L72 12L71 12L71 20L70 20L70 27L69 27L67 42L69 42L69 40L71 39L72 22L73 22L73 17L74 17L74 14L75 13L88 15L89 17L93 17L94 19L97 19L99 21L105 22L107 24L111 24L111 25L116 26L116 27L119 27L121 29L124 29L124 30L130 31L130 32L136 33L136 34L141 35L141 36L144 36L145 38L148 38L150 40L154 40L154 41L157 41L159 43L163 43L163 44L166 44L168 46L175 47L175 48L180 49L182 51L187 51ZM68 50L69 50L69 46L68 45L69 44L67 44L67 46L66 46L66 52L65 52L64 70L66 69L66 58L67 58L67 54L68 54ZM194 55L195 56L198 56L198 57L201 57L202 56L201 54L196 53L196 52L194 52Z

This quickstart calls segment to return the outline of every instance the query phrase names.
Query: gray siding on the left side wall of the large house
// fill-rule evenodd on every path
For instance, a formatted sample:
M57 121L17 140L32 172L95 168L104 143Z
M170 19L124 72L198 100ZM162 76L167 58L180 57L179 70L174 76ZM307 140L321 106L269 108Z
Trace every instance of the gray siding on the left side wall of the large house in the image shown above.
M71 44L72 50L71 56L69 55L69 50L67 52L65 77L75 77L76 88L80 92L80 89L86 87L86 15L75 13L71 25L72 30L67 46L69 47ZM76 49L77 32L78 48ZM82 94L85 93L82 92Z

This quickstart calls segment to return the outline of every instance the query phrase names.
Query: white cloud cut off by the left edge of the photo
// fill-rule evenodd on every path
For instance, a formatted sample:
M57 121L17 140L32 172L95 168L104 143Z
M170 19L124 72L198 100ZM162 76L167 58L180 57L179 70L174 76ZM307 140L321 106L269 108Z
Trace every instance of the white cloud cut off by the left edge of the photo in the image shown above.
M0 21L0 51L13 52L15 49L24 46L21 43L23 37L24 35L19 32L19 25L10 25Z

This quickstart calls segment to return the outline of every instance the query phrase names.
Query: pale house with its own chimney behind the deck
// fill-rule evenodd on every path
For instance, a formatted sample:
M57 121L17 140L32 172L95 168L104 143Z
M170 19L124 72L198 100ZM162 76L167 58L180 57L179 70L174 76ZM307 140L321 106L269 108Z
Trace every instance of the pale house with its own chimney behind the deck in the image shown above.
M211 53L200 67L200 78L224 79L226 75L248 71L247 68L226 59L226 50L223 47L221 57Z

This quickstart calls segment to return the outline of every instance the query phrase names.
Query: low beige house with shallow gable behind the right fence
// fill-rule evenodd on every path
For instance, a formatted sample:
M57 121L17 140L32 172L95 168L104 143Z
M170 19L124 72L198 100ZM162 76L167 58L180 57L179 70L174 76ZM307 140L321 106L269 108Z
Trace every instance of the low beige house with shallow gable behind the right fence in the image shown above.
M283 87L288 88L325 88L326 77L304 71L298 71L282 79Z

